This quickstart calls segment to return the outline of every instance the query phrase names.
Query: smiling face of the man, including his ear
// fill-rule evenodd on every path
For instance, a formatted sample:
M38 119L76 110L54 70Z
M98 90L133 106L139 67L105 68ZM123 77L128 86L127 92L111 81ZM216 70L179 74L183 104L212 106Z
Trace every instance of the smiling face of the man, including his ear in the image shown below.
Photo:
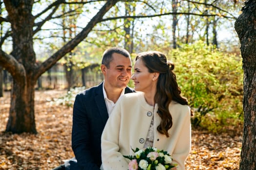
M102 72L105 77L105 85L123 89L131 77L131 59L122 54L113 53L109 68L102 65Z

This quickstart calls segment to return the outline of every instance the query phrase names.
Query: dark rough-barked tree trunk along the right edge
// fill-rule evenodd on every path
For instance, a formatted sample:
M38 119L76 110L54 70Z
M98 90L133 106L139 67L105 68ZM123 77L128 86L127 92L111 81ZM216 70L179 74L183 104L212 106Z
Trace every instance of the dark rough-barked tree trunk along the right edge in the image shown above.
M240 170L256 170L256 0L247 0L235 21L244 70L244 128Z

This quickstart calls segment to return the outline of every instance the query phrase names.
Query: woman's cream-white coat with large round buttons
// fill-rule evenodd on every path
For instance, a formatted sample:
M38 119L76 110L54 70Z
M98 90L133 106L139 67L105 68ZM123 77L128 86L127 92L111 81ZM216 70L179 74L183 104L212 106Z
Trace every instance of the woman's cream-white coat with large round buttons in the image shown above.
M123 155L134 155L132 149L142 149L154 115L153 147L167 151L178 164L178 170L185 170L185 160L191 148L190 108L171 102L169 110L172 127L169 137L160 134L156 128L160 117L155 108L149 105L144 93L130 93L120 97L107 120L101 138L102 166L104 170L128 170L129 159Z

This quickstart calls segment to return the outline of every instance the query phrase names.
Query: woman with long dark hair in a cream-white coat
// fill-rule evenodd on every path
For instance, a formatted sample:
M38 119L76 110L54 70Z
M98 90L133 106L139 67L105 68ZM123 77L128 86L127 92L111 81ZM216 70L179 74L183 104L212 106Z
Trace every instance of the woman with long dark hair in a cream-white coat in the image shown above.
M191 112L173 68L161 52L138 54L131 77L138 92L119 99L102 134L104 170L127 170L129 160L123 155L149 146L167 151L178 170L185 170L191 148Z

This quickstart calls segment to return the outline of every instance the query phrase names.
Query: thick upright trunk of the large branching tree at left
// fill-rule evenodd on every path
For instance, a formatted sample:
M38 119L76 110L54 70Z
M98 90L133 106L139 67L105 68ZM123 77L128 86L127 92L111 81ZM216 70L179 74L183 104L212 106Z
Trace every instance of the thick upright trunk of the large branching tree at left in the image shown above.
M6 10L11 22L13 52L12 56L23 65L21 77L14 77L11 91L11 107L6 132L37 133L34 115L34 95L36 78L33 50L33 24L31 14L33 0L5 0Z

